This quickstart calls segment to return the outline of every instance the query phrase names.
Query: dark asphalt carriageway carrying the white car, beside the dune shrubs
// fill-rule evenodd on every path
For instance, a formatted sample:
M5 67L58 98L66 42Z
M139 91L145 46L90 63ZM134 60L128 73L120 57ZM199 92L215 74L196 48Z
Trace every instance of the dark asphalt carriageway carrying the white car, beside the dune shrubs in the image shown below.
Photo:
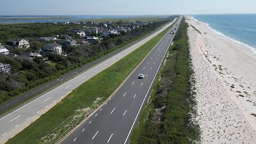
M108 99L86 121L78 125L60 143L129 143L134 126L137 124L143 105L157 75L173 34L180 24L163 37L149 55L126 79L116 93ZM140 79L138 76L145 74Z

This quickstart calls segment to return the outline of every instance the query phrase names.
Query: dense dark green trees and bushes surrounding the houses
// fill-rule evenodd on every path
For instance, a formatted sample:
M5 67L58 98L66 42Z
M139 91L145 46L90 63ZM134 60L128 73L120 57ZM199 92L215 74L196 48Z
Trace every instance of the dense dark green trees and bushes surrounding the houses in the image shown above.
M35 86L51 81L70 70L81 67L85 63L97 59L104 54L114 51L119 47L150 33L150 31L155 30L171 19L172 18L164 19L163 21L154 22L150 25L141 26L135 30L121 33L120 35L110 35L105 37L101 43L69 46L66 51L67 56L48 52L46 56L51 61L50 63L43 62L42 58L36 58L34 61L30 61L26 58L11 58L6 55L1 55L0 62L9 63L12 67L12 74L5 75L0 73L0 103L10 99L10 97L14 97L22 92L32 89ZM73 28L76 27L78 26L74 25ZM5 34L8 34L8 37L37 38L39 36L65 33L67 28L70 27L65 25L50 25L47 23L0 25L0 30L3 29ZM14 33L14 31L16 32ZM0 33L3 33L3 31L1 30ZM7 36L1 34L0 39L3 41L4 39L7 39ZM30 40L29 38L27 39ZM31 42L31 47L29 49L8 48L14 53L20 53L20 51L36 51L41 49L44 43L47 42Z

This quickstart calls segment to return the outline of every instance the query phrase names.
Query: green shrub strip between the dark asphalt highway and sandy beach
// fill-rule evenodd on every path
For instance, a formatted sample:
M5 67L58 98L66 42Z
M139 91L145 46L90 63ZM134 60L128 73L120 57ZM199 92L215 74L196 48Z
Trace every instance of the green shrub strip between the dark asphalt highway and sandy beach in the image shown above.
M133 143L197 143L200 140L199 126L192 121L196 102L191 93L193 70L189 62L187 27L183 19L149 104L151 109L145 125L138 141Z

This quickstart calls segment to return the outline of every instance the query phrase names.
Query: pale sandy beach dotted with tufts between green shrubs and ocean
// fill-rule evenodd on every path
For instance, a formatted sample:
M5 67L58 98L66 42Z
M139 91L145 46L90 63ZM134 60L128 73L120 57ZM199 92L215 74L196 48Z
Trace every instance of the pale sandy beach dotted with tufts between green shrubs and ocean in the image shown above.
M256 56L187 17L202 143L256 143Z

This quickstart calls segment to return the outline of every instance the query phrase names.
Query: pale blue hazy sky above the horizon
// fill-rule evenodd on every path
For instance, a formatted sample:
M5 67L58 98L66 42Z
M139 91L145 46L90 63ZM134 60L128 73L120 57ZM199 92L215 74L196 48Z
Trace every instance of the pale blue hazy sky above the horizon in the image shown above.
M256 0L1 0L0 15L256 13Z

